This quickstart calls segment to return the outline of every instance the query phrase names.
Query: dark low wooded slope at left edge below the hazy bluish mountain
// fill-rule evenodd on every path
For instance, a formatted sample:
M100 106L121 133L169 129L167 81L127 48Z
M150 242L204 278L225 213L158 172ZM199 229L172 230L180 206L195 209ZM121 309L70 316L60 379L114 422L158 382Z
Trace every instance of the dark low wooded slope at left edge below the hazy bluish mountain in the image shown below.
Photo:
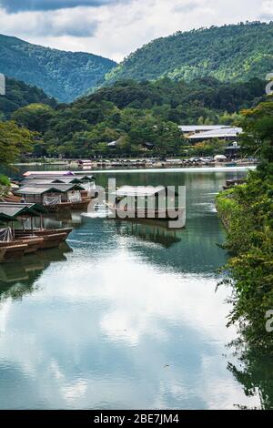
M0 120L8 119L19 107L43 103L56 107L56 99L47 97L43 89L6 77L5 96L0 96Z

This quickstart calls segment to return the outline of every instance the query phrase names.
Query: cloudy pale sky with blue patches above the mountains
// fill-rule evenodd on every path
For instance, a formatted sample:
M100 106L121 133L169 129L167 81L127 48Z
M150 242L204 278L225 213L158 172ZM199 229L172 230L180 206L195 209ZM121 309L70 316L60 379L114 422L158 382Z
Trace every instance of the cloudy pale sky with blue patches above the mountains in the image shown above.
M0 33L117 62L201 26L273 21L273 0L0 0Z

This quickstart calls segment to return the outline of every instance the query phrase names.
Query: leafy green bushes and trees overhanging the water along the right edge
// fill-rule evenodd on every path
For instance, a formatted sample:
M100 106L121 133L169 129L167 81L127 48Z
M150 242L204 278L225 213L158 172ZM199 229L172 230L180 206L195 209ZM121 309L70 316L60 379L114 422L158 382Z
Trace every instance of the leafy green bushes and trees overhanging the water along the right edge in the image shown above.
M268 97L268 102L244 112L243 144L248 153L258 153L257 170L248 172L245 184L221 192L216 199L230 256L223 268L226 279L219 285L231 286L233 309L227 325L238 326L238 339L229 343L238 363L228 362L227 369L248 396L258 391L263 410L273 408L272 316L268 321L273 310L272 101Z

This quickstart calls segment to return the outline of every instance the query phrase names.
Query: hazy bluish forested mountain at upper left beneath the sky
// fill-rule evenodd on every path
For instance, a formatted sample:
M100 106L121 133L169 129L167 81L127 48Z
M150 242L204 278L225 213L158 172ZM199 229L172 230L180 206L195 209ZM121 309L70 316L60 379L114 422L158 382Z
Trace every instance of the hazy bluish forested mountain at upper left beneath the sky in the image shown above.
M101 56L50 49L0 35L0 73L41 87L62 102L96 87L114 66L114 61Z

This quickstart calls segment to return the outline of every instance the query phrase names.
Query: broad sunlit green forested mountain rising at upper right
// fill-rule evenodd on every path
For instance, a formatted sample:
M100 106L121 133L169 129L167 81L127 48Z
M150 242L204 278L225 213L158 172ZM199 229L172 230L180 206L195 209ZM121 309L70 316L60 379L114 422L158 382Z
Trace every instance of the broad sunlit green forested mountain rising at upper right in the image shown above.
M273 70L273 23L259 22L201 28L161 37L136 50L106 75L153 80L162 76L221 81L264 79Z

